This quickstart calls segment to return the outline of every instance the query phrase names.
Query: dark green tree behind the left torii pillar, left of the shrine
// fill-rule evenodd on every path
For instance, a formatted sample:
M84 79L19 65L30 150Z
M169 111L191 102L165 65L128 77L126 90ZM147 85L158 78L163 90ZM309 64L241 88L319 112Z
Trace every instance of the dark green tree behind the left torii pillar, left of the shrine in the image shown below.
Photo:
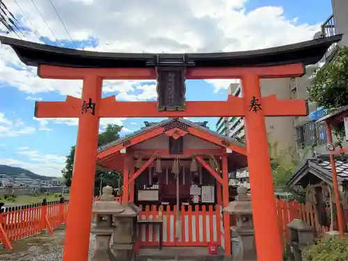
M98 138L98 146L106 145L107 143L111 143L112 141L116 141L120 138L120 130L122 126L118 126L115 124L109 124L106 126L104 132L99 134ZM72 146L69 154L65 159L65 168L63 168L62 174L65 179L65 183L68 187L71 185L72 179L72 168L74 166L74 155L75 155L75 146ZM115 171L109 171L100 166L96 167L95 170L95 188L100 187L100 181L102 180L103 186L106 184L110 184L112 187L116 188L118 185L118 178L121 178L118 173ZM120 184L122 184L122 179L120 180ZM96 189L97 191L97 189Z

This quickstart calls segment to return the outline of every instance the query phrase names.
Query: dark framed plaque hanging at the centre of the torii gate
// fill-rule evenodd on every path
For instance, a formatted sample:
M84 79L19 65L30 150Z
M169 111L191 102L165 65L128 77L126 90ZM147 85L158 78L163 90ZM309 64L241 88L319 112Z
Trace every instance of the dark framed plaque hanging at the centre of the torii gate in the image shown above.
M157 67L157 95L159 111L184 111L185 72L184 66Z

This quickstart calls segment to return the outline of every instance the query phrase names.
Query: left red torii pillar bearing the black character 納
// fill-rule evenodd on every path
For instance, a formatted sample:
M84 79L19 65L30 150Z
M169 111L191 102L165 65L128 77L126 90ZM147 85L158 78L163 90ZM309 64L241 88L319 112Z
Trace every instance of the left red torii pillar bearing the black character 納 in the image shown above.
M65 234L63 260L88 260L100 122L97 110L101 98L102 78L93 74L84 77L81 105L77 107L82 109L79 116L70 191L70 201L73 204L68 208L68 229Z

